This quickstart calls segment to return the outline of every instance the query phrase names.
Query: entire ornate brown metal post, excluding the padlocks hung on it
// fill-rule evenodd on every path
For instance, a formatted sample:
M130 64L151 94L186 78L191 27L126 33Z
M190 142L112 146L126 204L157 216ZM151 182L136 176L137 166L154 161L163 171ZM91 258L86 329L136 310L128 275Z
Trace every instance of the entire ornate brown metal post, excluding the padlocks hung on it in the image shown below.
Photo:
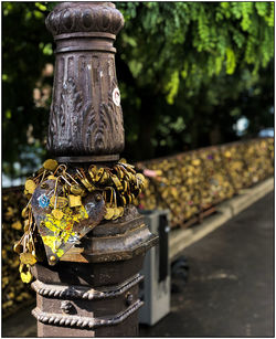
M56 63L47 148L71 168L112 166L124 149L115 70L116 34L124 25L110 2L64 2L47 17ZM138 335L139 271L157 243L134 205L103 221L54 265L36 264L39 337Z

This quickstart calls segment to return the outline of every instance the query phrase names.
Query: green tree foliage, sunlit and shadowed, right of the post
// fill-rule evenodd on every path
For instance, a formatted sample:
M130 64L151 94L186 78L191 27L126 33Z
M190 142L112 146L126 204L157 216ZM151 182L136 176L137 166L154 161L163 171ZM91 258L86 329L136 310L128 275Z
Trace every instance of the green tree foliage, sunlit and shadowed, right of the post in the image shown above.
M126 116L131 140L139 141L128 140L131 149L138 145L136 156L149 158L180 151L183 145L235 138L233 124L248 113L245 105L232 106L248 97L261 76L273 77L261 71L274 55L274 3L120 2L117 7L126 19L118 42L118 74L126 83L128 105L130 96L139 98L132 99L131 117ZM258 109L261 114L264 105ZM214 125L216 138L210 136Z

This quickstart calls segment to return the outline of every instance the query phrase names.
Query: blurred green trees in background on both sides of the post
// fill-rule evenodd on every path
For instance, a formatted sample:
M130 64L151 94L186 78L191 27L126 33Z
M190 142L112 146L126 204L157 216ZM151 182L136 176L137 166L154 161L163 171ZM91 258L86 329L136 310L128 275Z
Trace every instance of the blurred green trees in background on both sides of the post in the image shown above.
M2 2L3 184L47 157L54 2ZM137 161L274 126L274 2L117 2L123 156Z

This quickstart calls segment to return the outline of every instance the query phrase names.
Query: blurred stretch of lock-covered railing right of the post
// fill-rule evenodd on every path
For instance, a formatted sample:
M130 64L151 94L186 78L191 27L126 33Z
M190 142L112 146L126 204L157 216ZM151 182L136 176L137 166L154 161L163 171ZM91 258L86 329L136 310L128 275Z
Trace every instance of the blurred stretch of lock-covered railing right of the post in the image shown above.
M138 166L156 173L139 197L140 209L169 209L172 227L189 226L217 203L273 176L274 139L205 147Z

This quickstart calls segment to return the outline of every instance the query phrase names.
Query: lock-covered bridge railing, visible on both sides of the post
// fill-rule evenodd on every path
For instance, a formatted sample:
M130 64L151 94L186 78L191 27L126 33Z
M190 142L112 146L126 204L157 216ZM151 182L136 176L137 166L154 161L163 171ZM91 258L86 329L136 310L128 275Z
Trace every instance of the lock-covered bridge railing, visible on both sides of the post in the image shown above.
M173 157L139 163L153 170L137 204L142 209L169 209L171 225L189 226L215 204L274 173L274 139L201 148ZM2 309L3 317L34 303L34 293L20 279L19 256L12 250L24 227L23 188L2 191Z

